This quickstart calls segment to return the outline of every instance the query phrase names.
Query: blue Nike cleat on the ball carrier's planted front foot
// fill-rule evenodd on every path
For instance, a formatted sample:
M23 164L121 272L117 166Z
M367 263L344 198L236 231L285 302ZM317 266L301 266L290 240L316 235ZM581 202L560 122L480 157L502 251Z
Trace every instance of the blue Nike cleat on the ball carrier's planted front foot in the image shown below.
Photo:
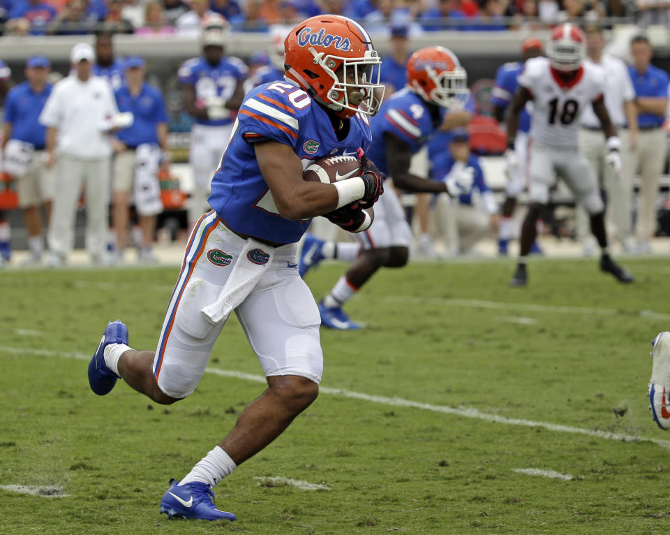
M186 483L179 485L176 479L170 479L172 486L161 499L161 513L169 518L194 518L197 520L237 520L228 511L219 511L214 505L214 492L207 483Z

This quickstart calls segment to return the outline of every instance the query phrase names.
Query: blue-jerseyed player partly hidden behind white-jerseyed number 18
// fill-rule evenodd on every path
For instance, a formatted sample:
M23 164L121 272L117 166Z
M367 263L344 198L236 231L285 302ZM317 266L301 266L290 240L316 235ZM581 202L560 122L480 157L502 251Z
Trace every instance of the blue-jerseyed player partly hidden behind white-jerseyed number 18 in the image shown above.
M500 124L505 121L505 112L516 88L519 87L519 73L527 59L541 56L543 53L542 41L530 37L521 43L521 61L511 61L502 64L496 71L496 85L491 91L491 104L493 104L493 117ZM519 154L521 166L507 166L507 184L505 185L505 203L502 205L502 217L498 226L498 253L507 256L509 240L519 233L514 228L514 210L516 209L516 197L526 187L526 154L528 154L528 132L530 131L530 114L524 108L519 115L519 130L514 140L514 151ZM531 252L539 253L539 246L533 244Z

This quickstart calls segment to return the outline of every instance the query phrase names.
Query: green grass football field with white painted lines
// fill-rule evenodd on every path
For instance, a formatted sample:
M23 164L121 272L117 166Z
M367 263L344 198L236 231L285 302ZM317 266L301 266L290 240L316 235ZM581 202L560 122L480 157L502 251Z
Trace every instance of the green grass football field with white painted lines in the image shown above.
M234 523L158 502L262 392L237 320L187 400L99 398L86 367L107 320L153 349L177 270L0 273L0 485L65 494L0 490L0 534L667 532L670 435L646 383L670 261L625 265L631 286L593 260L537 261L523 289L512 261L380 272L348 307L368 328L322 331L319 399L216 488ZM310 273L315 295L342 270Z

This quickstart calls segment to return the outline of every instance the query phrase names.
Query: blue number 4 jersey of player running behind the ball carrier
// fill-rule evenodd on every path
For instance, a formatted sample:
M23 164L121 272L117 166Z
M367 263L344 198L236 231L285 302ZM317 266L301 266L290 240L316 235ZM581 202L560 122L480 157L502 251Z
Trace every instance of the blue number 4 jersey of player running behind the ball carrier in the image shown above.
M415 154L437 131L445 111L445 108L438 108L437 114L431 114L424 99L407 87L392 94L370 121L372 144L368 158L382 173L388 175L384 135L389 133L404 141L412 149L412 154Z

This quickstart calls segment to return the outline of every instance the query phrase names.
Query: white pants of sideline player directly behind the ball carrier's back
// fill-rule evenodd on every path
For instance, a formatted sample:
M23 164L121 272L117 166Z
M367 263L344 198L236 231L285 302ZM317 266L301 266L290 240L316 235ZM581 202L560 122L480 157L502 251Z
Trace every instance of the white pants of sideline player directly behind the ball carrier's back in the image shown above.
M188 202L188 221L195 222L202 212L209 210L207 197L209 197L209 185L214 171L221 163L221 156L228 147L232 124L224 126L207 126L205 124L193 124L191 128L191 148L188 161L193 168L193 180L195 189Z

